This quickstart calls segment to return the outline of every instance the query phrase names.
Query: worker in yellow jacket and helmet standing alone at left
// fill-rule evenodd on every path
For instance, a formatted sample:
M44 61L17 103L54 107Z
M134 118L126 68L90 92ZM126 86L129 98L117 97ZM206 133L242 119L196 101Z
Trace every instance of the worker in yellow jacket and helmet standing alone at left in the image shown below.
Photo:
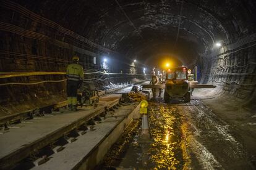
M67 105L69 110L77 110L77 89L83 82L83 67L79 65L79 57L74 55L67 66Z

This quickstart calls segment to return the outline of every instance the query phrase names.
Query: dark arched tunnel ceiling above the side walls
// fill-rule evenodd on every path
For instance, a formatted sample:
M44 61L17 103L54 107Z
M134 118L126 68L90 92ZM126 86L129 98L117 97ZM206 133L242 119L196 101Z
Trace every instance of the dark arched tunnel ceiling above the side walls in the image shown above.
M162 54L192 63L216 41L230 44L255 31L254 1L17 2L124 57L151 65Z

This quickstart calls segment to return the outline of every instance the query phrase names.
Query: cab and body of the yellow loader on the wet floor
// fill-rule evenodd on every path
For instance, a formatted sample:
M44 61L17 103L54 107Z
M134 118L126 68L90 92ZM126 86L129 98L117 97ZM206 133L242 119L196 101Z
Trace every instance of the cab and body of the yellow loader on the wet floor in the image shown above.
M190 102L190 87L186 67L175 67L166 70L164 103L172 99L183 99Z

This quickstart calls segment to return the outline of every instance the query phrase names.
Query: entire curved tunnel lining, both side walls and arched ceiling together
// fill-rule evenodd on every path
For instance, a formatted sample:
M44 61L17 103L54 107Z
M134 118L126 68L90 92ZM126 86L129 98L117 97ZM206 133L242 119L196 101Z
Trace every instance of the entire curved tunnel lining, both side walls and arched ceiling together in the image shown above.
M128 73L136 58L141 73L145 66L155 67L159 57L154 56L164 53L180 57L190 68L200 66L202 83L217 84L216 94L241 99L252 108L256 99L255 8L254 1L4 0L0 2L0 69L65 71L70 57L78 54L86 70L100 69L107 56L113 63L111 72ZM214 47L218 41L224 42L224 51ZM22 101L27 101L27 109L33 107L32 100L43 105L65 98L65 83L0 88L1 103L6 106L2 113L6 108L12 108L12 113L24 110L17 108Z

